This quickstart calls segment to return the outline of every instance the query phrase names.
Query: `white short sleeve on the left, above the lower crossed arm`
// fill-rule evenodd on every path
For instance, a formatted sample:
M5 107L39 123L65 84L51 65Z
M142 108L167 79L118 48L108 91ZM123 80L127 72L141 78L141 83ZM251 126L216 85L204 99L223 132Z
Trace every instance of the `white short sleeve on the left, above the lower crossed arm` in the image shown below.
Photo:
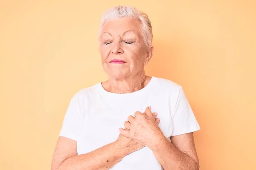
M64 116L59 136L64 136L78 141L81 135L81 107L79 96L75 94L70 100L67 112Z

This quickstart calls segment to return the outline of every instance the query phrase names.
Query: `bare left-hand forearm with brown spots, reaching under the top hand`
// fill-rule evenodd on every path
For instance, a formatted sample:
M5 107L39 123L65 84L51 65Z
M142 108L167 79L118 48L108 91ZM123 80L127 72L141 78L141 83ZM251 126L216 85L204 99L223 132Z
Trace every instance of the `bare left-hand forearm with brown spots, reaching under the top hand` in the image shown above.
M56 170L108 170L128 154L116 142L64 160Z

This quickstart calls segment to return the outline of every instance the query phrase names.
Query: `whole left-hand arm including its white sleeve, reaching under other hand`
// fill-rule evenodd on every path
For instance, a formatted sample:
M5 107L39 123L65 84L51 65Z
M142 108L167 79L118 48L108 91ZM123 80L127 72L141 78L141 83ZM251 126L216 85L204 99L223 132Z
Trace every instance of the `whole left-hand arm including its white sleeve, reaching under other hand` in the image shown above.
M108 170L138 148L137 142L119 136L115 142L90 153L77 155L76 141L81 135L83 103L80 93L75 94L70 101L52 157L51 170Z

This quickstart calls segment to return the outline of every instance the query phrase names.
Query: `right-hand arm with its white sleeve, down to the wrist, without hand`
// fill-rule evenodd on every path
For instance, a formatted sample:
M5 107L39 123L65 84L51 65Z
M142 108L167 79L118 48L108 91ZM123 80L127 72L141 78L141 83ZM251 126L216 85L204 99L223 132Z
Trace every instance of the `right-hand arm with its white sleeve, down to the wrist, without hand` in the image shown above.
M200 129L192 108L186 98L183 88L176 94L177 98L170 98L172 115L171 141L166 139L162 132L158 133L161 142L151 147L154 156L165 170L198 170L199 161L195 150L193 133ZM175 104L175 105L174 105Z

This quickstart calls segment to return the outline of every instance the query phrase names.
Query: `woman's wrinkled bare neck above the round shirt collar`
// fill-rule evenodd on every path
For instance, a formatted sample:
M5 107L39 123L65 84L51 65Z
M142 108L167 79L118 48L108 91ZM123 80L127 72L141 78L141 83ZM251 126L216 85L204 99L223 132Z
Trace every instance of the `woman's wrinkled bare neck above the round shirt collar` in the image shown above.
M112 93L125 94L139 91L148 83L145 71L140 71L137 74L122 79L109 78L106 82L106 90Z

